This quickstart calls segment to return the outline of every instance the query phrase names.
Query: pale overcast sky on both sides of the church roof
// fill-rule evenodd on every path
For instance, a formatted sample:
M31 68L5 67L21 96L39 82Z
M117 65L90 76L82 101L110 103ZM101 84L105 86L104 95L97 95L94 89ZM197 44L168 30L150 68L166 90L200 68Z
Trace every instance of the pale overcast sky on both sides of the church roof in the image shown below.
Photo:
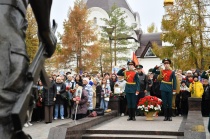
M161 20L164 14L163 8L164 0L127 0L130 8L134 12L138 12L140 15L140 23L143 32L146 32L147 27L152 22L158 27L158 31L161 31ZM57 31L63 33L63 21L67 18L67 14L70 7L73 7L74 0L53 0L53 6L51 11L51 18L55 19L58 23Z

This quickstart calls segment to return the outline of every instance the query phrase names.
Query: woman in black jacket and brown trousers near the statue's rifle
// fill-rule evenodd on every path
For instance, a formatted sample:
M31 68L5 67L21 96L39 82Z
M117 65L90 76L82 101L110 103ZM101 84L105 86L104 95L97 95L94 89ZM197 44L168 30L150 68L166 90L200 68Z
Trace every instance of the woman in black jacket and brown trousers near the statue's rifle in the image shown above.
M52 123L53 117L53 107L56 100L56 85L52 78L50 78L51 87L49 89L43 88L42 93L42 102L44 104L44 111L45 111L45 123Z

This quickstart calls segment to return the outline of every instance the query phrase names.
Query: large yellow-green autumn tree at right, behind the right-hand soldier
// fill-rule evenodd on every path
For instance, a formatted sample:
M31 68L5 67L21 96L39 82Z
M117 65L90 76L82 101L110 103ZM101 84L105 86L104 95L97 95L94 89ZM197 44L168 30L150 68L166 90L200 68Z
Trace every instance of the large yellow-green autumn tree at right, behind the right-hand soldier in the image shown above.
M175 68L204 69L204 60L209 59L205 3L201 0L176 0L168 9L168 15L169 19L162 20L165 30L162 40L171 45L160 48L153 44L153 51L160 58L167 55L173 59Z

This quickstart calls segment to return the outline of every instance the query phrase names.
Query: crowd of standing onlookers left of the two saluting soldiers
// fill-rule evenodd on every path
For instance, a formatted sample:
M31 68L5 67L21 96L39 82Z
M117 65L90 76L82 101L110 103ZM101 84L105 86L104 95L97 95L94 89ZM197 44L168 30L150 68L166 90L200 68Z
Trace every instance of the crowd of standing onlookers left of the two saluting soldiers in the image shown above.
M65 75L54 73L49 79L49 89L43 87L41 80L34 85L34 103L27 113L25 127L32 126L31 121L44 120L47 124L53 119L78 120L88 116L96 108L106 112L117 75L104 73L103 76L92 76L87 72L82 75L67 72Z

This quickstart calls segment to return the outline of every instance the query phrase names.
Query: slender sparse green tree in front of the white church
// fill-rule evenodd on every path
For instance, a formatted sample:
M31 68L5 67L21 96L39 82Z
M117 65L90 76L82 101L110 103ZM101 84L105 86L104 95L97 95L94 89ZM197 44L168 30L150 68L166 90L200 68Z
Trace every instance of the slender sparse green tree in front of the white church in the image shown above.
M110 12L108 12L109 19L103 18L102 20L105 22L105 27L102 27L102 39L110 41L110 56L107 57L110 59L111 68L114 57L114 65L117 65L118 62L122 60L127 60L128 56L125 55L130 48L127 47L131 42L128 39L131 38L132 33L131 30L134 28L133 26L128 26L125 22L127 16L125 12L114 4L111 7ZM105 42L105 41L102 42ZM122 56L124 54L125 56ZM113 56L114 55L114 56Z

